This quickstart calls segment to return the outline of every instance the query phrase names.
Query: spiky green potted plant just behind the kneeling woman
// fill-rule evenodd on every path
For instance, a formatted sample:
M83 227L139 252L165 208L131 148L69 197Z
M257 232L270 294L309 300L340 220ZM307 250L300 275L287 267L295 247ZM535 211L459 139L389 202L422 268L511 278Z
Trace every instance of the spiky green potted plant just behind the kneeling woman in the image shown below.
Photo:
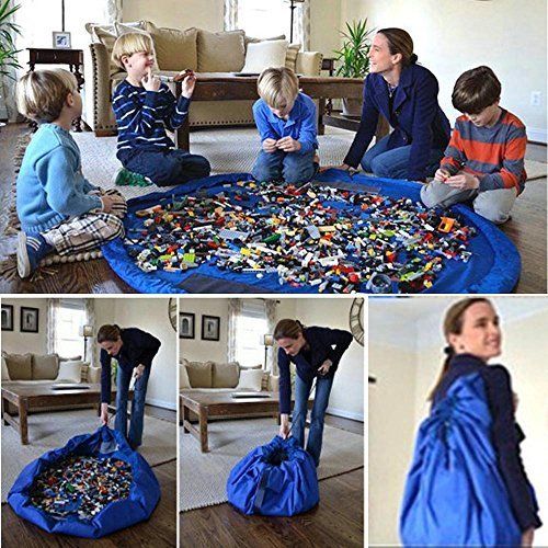
M335 61L341 65L335 76L344 78L365 78L369 70L369 36L373 28L367 30L367 19L346 23L346 31L340 31L344 38L341 49L335 49ZM362 112L362 99L343 99L343 115L359 117Z

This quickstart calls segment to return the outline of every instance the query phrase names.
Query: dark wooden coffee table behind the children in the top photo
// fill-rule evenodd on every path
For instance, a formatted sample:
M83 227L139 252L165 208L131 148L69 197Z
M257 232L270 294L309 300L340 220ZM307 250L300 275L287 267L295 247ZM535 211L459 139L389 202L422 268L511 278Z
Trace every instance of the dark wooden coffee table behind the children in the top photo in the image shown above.
M233 101L256 100L256 76L233 76L226 73L196 73L196 87L192 94L192 101ZM175 95L181 95L181 83L174 84ZM299 77L299 88L312 99L319 99L318 109L318 134L323 135L323 114L328 99L361 99L364 93L364 81L361 78L334 78L318 76ZM175 146L190 150L189 117L178 129Z

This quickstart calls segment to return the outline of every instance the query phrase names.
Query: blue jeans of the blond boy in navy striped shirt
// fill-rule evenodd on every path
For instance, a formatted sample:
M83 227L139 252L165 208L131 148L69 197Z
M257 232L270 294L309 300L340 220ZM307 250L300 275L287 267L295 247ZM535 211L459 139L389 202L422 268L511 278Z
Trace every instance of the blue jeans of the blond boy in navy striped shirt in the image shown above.
M182 184L192 179L209 176L209 162L186 150L130 150L119 156L124 168L148 176L158 186Z

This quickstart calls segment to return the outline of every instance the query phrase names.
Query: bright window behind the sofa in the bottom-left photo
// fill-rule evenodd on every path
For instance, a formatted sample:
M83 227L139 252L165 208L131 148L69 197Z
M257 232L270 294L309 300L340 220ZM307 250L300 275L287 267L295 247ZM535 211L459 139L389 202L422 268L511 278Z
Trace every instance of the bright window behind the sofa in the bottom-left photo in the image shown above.
M60 299L55 324L55 352L61 357L83 355L80 328L85 323L83 299Z

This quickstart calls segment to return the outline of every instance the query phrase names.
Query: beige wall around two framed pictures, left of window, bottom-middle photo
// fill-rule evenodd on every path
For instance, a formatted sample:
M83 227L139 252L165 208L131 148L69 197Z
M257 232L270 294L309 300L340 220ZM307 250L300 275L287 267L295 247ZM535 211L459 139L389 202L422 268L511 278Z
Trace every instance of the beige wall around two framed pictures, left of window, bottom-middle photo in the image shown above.
M179 358L190 362L226 362L228 353L228 299L184 298L179 299L180 312L195 315L194 339L179 339ZM219 341L202 340L202 316L220 318Z

